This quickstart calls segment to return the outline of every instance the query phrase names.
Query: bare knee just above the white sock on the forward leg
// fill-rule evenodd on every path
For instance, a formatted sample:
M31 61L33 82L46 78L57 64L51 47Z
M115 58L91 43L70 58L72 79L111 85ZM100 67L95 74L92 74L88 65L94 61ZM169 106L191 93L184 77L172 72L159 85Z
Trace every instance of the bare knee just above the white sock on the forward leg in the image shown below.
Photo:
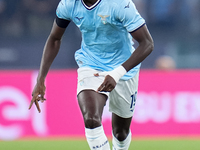
M84 117L85 127L86 128L96 128L101 125L101 119L99 117Z

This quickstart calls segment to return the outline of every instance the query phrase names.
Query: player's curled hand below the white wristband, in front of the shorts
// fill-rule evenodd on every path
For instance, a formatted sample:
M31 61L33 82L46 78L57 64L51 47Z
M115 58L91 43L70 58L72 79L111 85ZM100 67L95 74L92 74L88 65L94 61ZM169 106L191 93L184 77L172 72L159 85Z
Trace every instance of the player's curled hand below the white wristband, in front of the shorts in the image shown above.
M106 75L106 72L94 74L94 76L96 77L100 75L105 76L105 79L103 83L99 86L99 88L97 89L97 92L111 92L115 88L117 83L110 75Z

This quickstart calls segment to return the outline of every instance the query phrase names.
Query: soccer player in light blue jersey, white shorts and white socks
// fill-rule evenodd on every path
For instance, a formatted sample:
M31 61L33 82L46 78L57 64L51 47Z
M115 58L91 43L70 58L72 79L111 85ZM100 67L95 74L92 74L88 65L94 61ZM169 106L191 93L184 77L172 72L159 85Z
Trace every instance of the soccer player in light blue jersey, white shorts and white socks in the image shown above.
M109 100L112 112L113 150L128 150L135 108L140 63L154 44L145 20L131 0L61 0L44 47L37 83L29 109L44 101L45 77L56 57L62 36L73 21L82 33L75 53L78 68L77 98L91 150L110 150L102 126ZM133 47L133 40L139 44Z

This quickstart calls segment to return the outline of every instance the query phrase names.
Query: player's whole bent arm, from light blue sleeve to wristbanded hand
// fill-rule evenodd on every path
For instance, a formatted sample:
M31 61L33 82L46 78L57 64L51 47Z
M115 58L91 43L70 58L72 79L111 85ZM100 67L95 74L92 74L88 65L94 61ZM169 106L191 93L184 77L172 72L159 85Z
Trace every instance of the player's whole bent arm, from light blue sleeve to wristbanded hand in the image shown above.
M122 65L109 72L102 72L98 75L104 75L104 82L97 91L112 91L117 82L129 70L141 63L154 48L153 39L147 29L145 20L140 16L134 3L131 0L124 0L118 8L115 9L116 19L120 20L132 37L139 43L139 46L132 55Z

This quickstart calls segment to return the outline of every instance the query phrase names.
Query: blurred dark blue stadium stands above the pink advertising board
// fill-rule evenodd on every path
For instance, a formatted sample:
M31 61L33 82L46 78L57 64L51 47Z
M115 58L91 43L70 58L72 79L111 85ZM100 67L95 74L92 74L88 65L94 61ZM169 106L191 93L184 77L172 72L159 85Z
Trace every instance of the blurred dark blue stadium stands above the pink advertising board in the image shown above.
M199 0L133 0L146 19L155 51L142 68L154 68L161 55L173 57L177 68L200 67ZM0 68L38 68L59 0L0 0ZM70 35L70 36L68 36ZM70 25L54 68L76 68L74 52L80 32Z

